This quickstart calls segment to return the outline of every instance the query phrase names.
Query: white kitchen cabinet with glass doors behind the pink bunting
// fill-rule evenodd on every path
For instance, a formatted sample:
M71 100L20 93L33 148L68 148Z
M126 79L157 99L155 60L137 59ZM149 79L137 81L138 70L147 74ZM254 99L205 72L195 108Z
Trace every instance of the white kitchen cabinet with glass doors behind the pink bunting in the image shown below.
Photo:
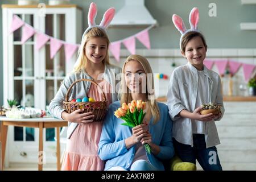
M46 6L44 13L36 5L2 5L3 10L3 99L16 99L19 105L47 110L65 75L72 71L76 53L65 61L64 47L50 58L49 42L39 51L35 49L36 36L21 43L22 28L9 34L13 15L37 31L67 43L80 43L82 36L82 10L76 5ZM41 12L41 13L40 13ZM38 129L10 127L6 162L34 162L37 158ZM44 144L48 147L47 159L55 161L54 129L44 132ZM9 154L9 156L8 156Z

